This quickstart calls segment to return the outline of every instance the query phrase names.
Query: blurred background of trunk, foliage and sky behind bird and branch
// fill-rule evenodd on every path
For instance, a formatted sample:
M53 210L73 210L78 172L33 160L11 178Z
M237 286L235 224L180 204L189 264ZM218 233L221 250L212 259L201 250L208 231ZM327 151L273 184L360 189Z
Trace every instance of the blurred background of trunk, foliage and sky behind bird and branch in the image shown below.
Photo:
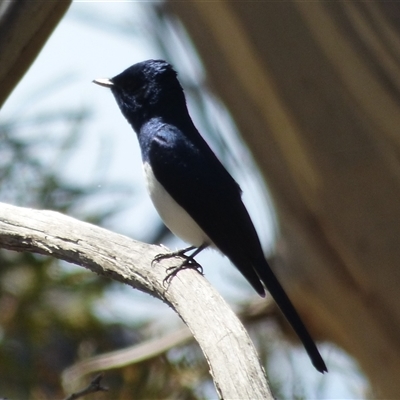
M21 4L0 3L0 201L181 248L147 196L135 133L91 83L166 59L329 369L314 370L274 304L225 258L202 253L275 397L398 398L398 6L63 2L33 29L50 6L30 18ZM73 365L183 326L160 301L80 267L6 250L0 265L0 397L63 398L96 373L72 379ZM110 391L92 398L216 398L192 341L103 369Z

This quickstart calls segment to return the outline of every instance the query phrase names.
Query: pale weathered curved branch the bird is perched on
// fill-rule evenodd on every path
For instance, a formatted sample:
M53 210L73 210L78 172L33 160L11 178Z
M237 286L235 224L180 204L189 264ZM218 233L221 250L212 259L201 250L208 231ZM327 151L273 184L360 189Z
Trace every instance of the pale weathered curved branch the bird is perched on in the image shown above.
M272 399L251 340L233 311L193 270L164 286L165 252L54 211L0 203L0 247L56 257L126 283L169 304L187 324L210 366L221 398Z

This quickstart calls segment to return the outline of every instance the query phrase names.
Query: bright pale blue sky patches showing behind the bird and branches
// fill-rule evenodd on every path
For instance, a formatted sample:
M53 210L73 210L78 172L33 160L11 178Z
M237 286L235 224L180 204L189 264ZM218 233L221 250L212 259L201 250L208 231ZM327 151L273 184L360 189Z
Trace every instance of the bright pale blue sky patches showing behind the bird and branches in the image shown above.
M151 229L158 223L159 217L145 190L137 139L122 117L111 93L92 84L92 80L112 77L144 59L164 58L157 41L151 39L149 7L149 3L146 5L141 2L74 2L0 115L0 118L6 119L21 110L27 116L79 106L92 110L94 115L87 124L84 136L80 138L73 162L65 166L63 174L66 179L82 184L90 182L95 176L100 188L110 182L123 183L130 187L132 193L135 193L132 207L112 220L107 228L138 240L144 240L146 229ZM176 41L169 61L173 62L179 76L185 82L201 83L205 72L184 32L179 27L171 30L168 40ZM211 96L208 100L207 107L214 115L213 123L221 131L223 140L232 153L231 162L228 160L228 169L229 166L233 168L235 162L244 166L230 169L230 172L244 190L244 201L261 241L267 244L268 250L273 246L276 223L271 205L264 200L265 188L260 178L254 175L254 165L237 137L229 114L217 99ZM215 138L207 136L196 112L192 113L192 117L213 147ZM54 132L54 135L57 134L58 132ZM107 147L107 165L99 167L99 157L105 151L104 146ZM51 160L51 156L49 159ZM164 244L172 249L183 246L177 239L171 239ZM198 260L205 266L206 278L231 303L255 296L241 275L217 253L202 254ZM99 304L99 313L106 319L124 321L162 315L159 329L164 329L165 324L170 324L172 311L166 306L160 306L156 299L133 292L129 288L122 288L109 293L108 298ZM179 323L176 317L173 324ZM298 372L309 384L322 387L323 398L350 398L355 393L360 393L357 397L362 397L365 387L362 377L356 372L343 373L354 371L351 360L330 345L323 347L322 353L327 358L327 364L334 365L333 371L331 368L330 374L324 380L310 366L304 351L295 350L291 357L300 360L298 364L301 365L301 371ZM281 353L277 352L277 358L279 354ZM276 362L285 363L279 360ZM288 371L290 375L290 368Z

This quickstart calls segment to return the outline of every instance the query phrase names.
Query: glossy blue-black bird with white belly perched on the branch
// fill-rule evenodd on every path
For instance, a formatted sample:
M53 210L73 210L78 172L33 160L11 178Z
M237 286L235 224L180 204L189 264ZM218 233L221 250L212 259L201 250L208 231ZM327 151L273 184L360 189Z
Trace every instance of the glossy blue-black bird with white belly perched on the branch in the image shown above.
M321 373L327 367L267 260L242 191L195 127L177 72L164 60L146 60L94 83L111 89L136 132L150 198L165 225L190 246L172 253L198 266L194 256L214 248L265 296L269 291ZM189 250L194 250L187 255ZM162 257L162 256L161 256Z

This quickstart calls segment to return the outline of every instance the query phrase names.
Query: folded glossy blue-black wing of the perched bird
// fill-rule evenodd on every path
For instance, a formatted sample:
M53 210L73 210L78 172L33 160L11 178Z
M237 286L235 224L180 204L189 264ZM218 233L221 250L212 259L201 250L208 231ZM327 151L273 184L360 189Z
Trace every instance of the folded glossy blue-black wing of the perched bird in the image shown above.
M196 139L194 143L178 128L164 126L149 145L153 173L254 289L264 295L252 265L253 259L264 255L240 188L202 138Z

